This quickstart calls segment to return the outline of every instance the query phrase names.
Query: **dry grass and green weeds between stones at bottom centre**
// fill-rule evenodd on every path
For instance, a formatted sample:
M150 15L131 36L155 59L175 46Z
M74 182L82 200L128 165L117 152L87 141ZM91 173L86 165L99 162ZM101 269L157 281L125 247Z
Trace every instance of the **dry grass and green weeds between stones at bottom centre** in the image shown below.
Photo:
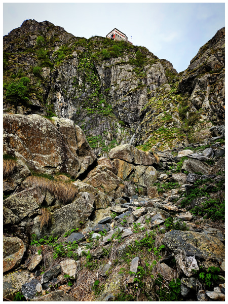
M43 273L65 258L80 259L80 267L77 268L75 279L69 278L69 276L67 277L67 275L62 273L61 278L55 283L55 288L52 286L50 291L56 290L60 286L65 286L67 293L73 296L75 300L94 301L100 300L99 296L101 296L102 292L105 292L106 286L112 284L118 293L117 301L151 300L156 294L155 288L162 290L166 288L164 290L169 293L172 292L173 286L169 285L170 280L166 280L160 275L160 260L165 256L165 246L162 245L165 231L160 230L159 227L150 230L149 226L147 226L146 229L147 231L143 231L140 228L135 230L137 238L131 237L131 242L126 244L124 250L121 250L121 248L126 239L121 238L120 231L117 232L116 236L110 239L108 248L103 248L105 250L101 250L99 255L94 255L93 253L94 250L100 248L99 242L96 239L92 240L91 236L87 237L86 242L83 244L78 244L75 241L66 243L66 239L61 239L60 241L57 237L44 237L37 240L37 237L33 235L30 253L31 255L35 254L38 249L38 253L43 255L43 266L41 266ZM85 246L87 242L91 242L88 244L91 245L91 249L89 251L85 249L80 257L77 249L79 246ZM50 261L50 255L52 256L52 262L49 262L47 268L46 261L48 257ZM130 264L136 256L139 257L139 265L137 272L132 273L130 272ZM111 267L106 272L106 275L102 276L100 270L108 262ZM128 283L129 275L134 275L132 283ZM122 282L121 285L116 285L116 282L119 281ZM159 287L159 284L162 287ZM179 294L176 293L175 299L179 298ZM158 299L156 298L155 300ZM165 297L165 300L168 299Z

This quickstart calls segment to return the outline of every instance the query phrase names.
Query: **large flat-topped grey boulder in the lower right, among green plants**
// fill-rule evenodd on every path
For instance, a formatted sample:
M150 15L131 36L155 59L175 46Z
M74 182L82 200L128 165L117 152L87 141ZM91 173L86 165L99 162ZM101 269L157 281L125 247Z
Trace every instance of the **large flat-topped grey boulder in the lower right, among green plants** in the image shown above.
M186 265L193 269L219 266L225 257L225 246L217 238L193 231L170 231L165 234L164 244L176 255L180 269L191 275ZM190 263L191 260L191 263ZM197 262L196 262L197 261Z

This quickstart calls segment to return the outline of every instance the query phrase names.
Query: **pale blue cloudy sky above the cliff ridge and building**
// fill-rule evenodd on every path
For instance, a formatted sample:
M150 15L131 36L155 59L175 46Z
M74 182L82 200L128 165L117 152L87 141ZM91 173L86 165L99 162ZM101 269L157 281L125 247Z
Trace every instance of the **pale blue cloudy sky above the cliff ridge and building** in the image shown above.
M6 1L5 1L6 2ZM224 3L4 3L3 35L24 20L48 20L74 36L105 37L113 28L185 70L200 47L225 26ZM68 1L69 2L69 1ZM90 1L91 2L91 1Z

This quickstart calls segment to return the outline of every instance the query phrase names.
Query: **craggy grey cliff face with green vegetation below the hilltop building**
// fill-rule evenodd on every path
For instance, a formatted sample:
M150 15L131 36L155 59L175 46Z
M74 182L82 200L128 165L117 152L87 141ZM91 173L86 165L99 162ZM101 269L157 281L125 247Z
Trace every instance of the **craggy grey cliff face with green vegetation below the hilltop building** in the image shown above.
M4 84L5 112L71 119L97 154L181 145L224 122L224 28L177 74L144 47L26 20L4 36Z

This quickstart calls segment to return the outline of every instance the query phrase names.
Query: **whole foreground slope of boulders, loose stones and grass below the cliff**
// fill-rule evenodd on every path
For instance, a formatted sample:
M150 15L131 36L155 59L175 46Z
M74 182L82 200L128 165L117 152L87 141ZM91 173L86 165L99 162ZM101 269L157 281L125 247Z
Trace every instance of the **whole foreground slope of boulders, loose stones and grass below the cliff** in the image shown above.
M182 148L124 144L97 158L68 119L4 115L5 300L224 300L215 129Z

